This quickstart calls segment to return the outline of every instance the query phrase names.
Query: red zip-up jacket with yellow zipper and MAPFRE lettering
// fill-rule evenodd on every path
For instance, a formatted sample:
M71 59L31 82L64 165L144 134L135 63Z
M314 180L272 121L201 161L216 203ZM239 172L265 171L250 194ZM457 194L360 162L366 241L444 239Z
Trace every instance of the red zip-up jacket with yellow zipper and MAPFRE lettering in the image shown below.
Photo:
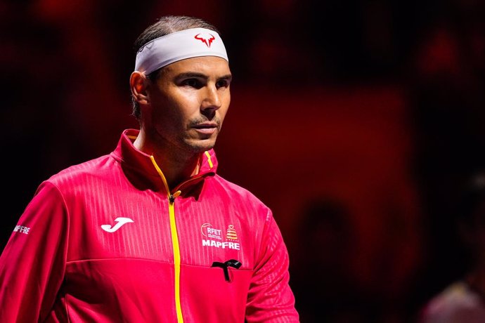
M298 322L268 207L213 150L167 192L137 134L41 183L0 257L0 322Z

